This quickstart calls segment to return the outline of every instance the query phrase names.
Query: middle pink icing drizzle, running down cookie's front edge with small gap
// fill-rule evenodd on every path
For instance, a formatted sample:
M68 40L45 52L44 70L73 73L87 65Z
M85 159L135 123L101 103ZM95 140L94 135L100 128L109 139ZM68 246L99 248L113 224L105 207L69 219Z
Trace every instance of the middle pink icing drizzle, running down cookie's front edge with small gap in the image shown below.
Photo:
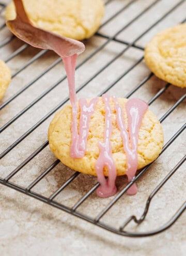
M116 165L112 158L111 134L112 134L112 114L109 103L109 97L104 94L102 99L105 103L105 130L104 141L99 142L100 154L96 161L96 172L100 186L97 189L99 197L111 197L116 193ZM108 179L103 175L103 168L108 168Z

